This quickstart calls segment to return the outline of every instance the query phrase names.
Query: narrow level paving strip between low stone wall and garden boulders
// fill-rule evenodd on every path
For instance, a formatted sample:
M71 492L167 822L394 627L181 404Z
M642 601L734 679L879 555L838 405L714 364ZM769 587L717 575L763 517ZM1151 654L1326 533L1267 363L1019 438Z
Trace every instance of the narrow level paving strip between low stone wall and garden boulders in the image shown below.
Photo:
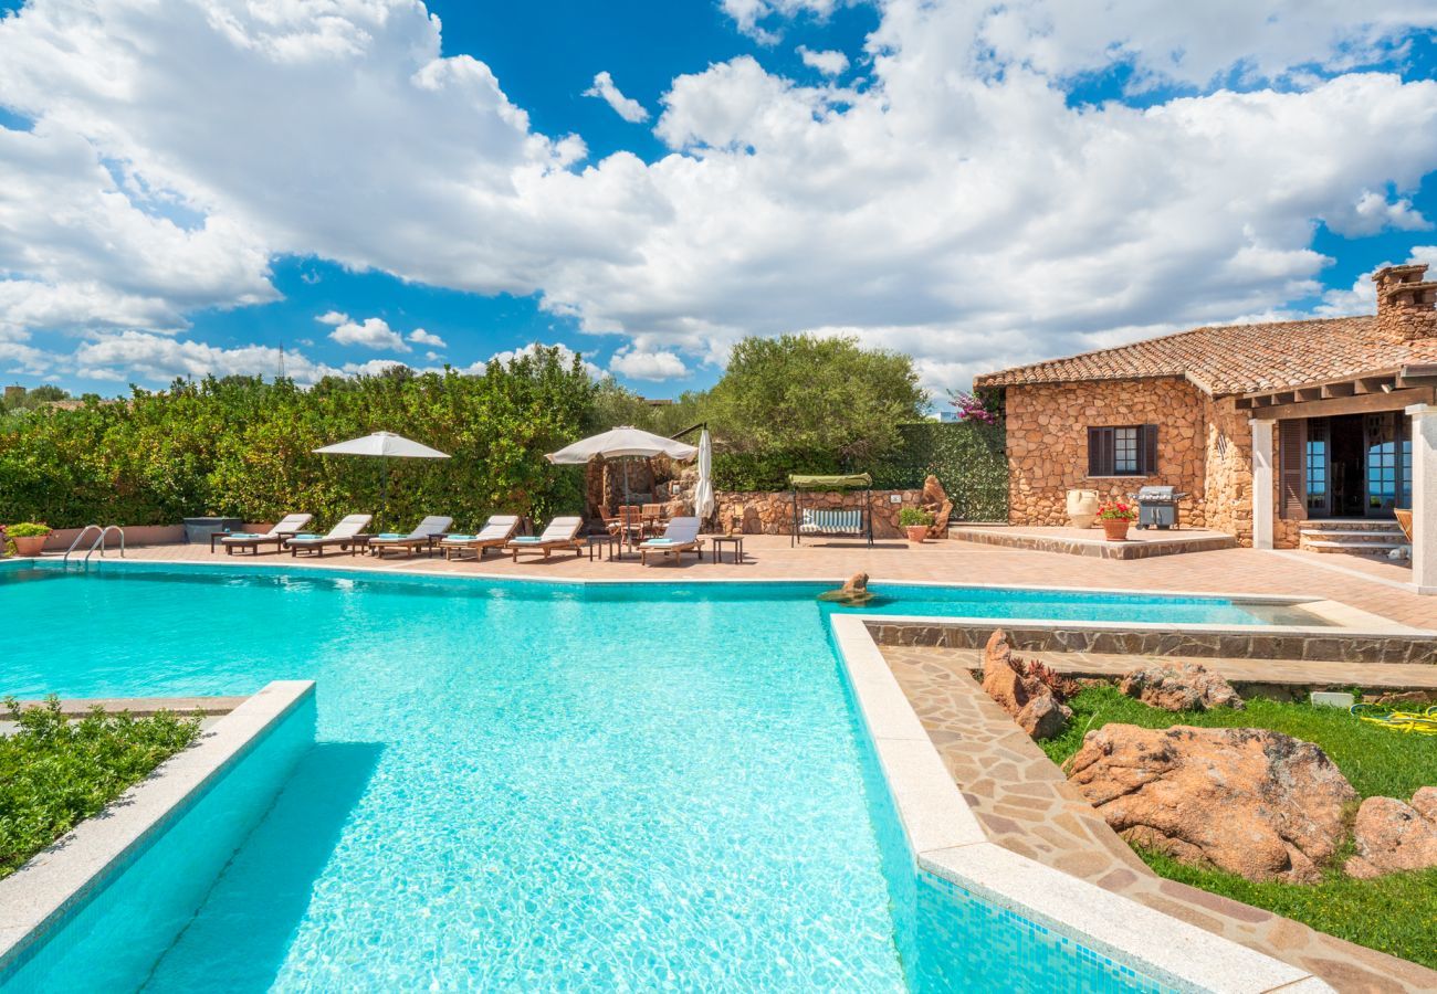
M915 654L931 654L934 661L951 661L960 669L983 668L981 649L946 649L915 645ZM1124 677L1154 662L1196 662L1239 685L1273 684L1326 689L1437 691L1437 666L1421 662L1315 662L1309 659L1234 659L1174 655L1135 655L1122 652L1023 652L1068 677Z

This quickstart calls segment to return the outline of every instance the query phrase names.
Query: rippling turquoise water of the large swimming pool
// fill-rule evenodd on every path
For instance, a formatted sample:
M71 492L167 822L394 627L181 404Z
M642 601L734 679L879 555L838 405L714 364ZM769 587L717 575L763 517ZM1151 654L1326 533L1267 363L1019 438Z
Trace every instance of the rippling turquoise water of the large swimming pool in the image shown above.
M931 881L895 889L816 589L7 567L0 616L46 623L0 692L319 682L318 746L135 988L1148 985ZM135 916L111 908L92 948Z

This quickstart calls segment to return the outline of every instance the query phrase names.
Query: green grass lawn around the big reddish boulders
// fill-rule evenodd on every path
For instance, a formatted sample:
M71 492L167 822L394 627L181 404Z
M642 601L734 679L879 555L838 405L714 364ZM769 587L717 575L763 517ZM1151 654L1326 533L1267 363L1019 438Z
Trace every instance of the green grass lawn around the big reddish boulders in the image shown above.
M1408 800L1437 784L1437 735L1410 735L1358 721L1341 708L1247 701L1244 711L1173 714L1124 697L1115 687L1091 687L1068 701L1073 720L1062 735L1039 743L1055 763L1078 751L1085 733L1109 723L1273 728L1321 746L1362 797ZM1253 883L1232 873L1184 866L1161 853L1138 850L1157 873L1312 928L1437 970L1437 869L1354 881L1341 872L1351 842L1322 882Z

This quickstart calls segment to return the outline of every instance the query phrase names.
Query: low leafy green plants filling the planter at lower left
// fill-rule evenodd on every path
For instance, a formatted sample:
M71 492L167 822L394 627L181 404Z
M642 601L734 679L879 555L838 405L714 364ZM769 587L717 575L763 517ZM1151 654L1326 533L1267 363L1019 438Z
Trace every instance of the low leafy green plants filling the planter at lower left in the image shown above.
M131 784L188 746L198 718L95 712L68 721L52 700L20 712L6 700L14 734L0 735L0 878L99 813Z

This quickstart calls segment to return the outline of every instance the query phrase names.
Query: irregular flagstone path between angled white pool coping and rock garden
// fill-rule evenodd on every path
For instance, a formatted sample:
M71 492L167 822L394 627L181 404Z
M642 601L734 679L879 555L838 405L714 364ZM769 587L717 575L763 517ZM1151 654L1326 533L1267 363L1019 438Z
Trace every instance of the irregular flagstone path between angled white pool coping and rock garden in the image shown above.
M1277 957L1339 991L1437 990L1437 971L1160 878L983 692L963 661L923 646L881 651L989 840Z

